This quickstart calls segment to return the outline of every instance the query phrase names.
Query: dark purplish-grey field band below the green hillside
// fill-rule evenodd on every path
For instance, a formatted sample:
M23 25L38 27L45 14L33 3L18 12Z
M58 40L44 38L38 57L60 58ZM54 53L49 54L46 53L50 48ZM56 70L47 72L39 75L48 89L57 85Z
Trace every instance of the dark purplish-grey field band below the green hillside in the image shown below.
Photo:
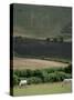
M56 58L72 58L72 42L56 41L54 42L38 39L28 39L22 37L13 37L14 53L20 57L56 57Z

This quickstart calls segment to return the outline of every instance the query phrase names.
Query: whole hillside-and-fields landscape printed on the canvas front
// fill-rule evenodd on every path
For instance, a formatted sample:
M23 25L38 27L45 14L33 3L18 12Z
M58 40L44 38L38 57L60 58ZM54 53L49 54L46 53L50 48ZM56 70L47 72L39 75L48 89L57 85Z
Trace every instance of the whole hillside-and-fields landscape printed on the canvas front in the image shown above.
M72 92L72 8L13 4L10 92L35 96ZM13 33L12 33L13 32ZM21 81L27 81L23 86Z

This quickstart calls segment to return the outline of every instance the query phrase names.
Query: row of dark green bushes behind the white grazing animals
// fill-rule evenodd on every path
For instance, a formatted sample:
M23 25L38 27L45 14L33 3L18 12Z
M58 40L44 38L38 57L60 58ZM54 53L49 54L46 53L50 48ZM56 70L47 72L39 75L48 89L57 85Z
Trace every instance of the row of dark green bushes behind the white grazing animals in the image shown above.
M12 70L11 70L12 71ZM14 70L13 86L19 84L20 80L28 80L31 83L57 82L72 78L72 64L65 68L46 68L35 70Z

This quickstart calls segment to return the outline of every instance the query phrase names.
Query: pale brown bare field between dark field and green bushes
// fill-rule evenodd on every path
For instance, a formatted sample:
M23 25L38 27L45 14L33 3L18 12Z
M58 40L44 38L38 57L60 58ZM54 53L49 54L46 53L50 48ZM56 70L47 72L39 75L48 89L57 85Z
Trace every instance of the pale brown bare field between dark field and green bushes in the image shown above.
M42 68L52 68L52 67L66 67L67 63L57 62L57 61L47 61L39 59L27 59L27 58L14 58L13 59L13 69L42 69Z

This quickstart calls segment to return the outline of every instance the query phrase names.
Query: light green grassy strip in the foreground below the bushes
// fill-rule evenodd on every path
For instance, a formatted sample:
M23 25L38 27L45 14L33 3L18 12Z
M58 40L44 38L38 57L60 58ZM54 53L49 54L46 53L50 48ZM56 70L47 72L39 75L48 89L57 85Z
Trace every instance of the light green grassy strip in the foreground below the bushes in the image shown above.
M27 87L14 87L13 96L34 96L72 92L71 83L62 87L62 82L31 84Z

